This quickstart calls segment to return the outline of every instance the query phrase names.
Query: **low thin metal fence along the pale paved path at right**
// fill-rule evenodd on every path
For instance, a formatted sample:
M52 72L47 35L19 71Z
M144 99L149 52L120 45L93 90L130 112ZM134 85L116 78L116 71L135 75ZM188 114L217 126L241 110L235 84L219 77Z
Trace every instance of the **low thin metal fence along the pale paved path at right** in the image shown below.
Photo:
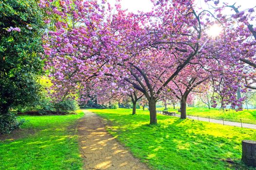
M168 115L168 116L176 116L179 117L180 114L166 114L166 111L157 110L157 113ZM169 112L174 113L174 112ZM237 126L241 128L250 128L250 129L256 129L256 120L252 119L228 119L224 117L215 117L215 116L199 116L199 115L189 115L187 114L188 119L195 119L195 120L201 120L201 121L208 121L213 123L219 123L223 125L230 125L230 126Z

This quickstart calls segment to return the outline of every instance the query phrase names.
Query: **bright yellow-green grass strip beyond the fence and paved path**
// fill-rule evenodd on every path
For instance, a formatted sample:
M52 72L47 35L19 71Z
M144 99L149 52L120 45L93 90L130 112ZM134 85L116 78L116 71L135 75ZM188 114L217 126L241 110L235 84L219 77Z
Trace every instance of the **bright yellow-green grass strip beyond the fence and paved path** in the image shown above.
M157 110L164 110L164 107L157 108ZM177 112L177 109L168 108L170 112ZM252 119L256 120L256 109L244 109L243 111L236 112L235 110L228 109L223 112L216 108L198 108L198 107L187 107L187 114L198 115L198 116L213 116L225 119Z

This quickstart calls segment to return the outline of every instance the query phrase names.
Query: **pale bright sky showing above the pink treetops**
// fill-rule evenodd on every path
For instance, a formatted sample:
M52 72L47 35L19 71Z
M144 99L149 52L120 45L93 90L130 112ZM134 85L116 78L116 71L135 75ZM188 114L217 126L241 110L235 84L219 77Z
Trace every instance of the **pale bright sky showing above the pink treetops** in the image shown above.
M115 0L109 0L111 4L115 3ZM228 2L229 4L234 4L237 2L237 6L241 5L240 10L252 8L256 6L256 0L220 0L221 4L223 1ZM204 6L204 0L195 0L198 7L208 8ZM152 3L150 0L121 0L121 5L124 9L128 9L130 12L144 11L148 12L152 8Z

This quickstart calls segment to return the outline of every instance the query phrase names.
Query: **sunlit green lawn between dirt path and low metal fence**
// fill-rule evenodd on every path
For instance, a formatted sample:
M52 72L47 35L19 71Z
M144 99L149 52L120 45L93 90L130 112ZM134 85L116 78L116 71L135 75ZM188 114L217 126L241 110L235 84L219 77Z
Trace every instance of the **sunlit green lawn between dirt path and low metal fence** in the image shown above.
M240 162L241 140L256 140L256 130L164 115L158 115L158 125L148 125L148 111L138 110L137 115L130 109L91 111L110 120L110 133L152 169L249 169Z

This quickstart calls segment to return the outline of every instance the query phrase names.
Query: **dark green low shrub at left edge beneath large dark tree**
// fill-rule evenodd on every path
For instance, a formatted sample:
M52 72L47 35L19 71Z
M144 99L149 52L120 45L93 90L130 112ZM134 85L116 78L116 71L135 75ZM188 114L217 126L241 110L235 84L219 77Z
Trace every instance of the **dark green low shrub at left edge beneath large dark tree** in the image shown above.
M0 114L0 134L10 134L14 129L18 129L25 119L17 119L15 113Z

